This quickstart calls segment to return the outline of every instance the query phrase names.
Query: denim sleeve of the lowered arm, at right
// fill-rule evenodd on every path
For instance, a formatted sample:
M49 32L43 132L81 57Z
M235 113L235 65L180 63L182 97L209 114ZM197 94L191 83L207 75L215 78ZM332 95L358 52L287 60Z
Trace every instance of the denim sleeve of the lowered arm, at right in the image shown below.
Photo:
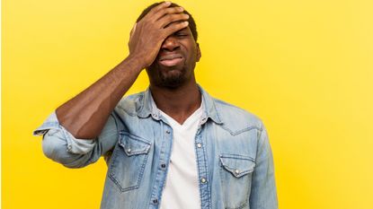
M264 126L259 132L259 141L253 171L251 209L278 209L273 157L268 134Z

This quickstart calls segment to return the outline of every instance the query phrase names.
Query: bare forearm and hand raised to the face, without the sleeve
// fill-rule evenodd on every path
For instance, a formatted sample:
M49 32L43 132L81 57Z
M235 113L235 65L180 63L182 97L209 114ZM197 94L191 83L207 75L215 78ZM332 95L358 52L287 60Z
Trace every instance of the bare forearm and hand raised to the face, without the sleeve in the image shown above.
M59 123L80 139L97 137L120 98L151 65L164 39L187 27L180 7L159 4L135 24L129 39L129 57L115 66L88 89L56 109ZM170 24L172 23L172 24Z

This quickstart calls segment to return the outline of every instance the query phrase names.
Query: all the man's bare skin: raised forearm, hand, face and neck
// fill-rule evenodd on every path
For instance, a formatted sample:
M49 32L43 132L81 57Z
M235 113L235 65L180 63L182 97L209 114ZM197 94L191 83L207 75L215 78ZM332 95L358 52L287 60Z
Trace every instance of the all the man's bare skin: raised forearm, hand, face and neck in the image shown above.
M169 7L170 4L155 6L135 24L128 57L56 109L59 123L75 138L100 135L111 111L144 68L157 107L176 121L182 124L200 107L200 91L194 77L200 48L188 27L188 15L182 13L181 7ZM164 57L175 55L181 57L177 65L163 65Z

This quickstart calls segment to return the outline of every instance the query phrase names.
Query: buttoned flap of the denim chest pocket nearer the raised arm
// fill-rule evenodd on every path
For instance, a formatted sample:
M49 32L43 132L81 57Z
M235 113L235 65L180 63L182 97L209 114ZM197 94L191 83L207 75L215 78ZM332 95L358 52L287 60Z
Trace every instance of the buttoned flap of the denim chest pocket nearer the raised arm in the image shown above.
M120 131L120 146L128 156L145 154L149 152L151 143L136 135L129 135L128 132Z

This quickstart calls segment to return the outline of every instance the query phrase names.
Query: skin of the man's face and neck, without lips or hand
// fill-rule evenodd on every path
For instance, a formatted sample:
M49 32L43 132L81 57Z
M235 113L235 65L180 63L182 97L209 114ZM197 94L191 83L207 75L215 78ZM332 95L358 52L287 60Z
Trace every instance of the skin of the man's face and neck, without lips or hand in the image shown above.
M164 66L162 57L180 55L179 65ZM200 48L189 28L179 30L164 40L155 62L147 67L150 89L158 109L182 124L200 107L194 67L200 60ZM173 81L176 79L176 83ZM170 82L171 81L171 82Z

